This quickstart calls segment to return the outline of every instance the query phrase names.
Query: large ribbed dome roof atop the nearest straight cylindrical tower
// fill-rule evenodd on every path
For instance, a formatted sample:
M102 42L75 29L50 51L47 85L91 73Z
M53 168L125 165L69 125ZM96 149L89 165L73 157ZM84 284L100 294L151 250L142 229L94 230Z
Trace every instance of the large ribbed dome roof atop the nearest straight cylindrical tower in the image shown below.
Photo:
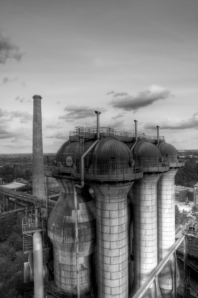
M130 149L113 136L101 139L93 152L95 164L118 164L128 163L132 159Z

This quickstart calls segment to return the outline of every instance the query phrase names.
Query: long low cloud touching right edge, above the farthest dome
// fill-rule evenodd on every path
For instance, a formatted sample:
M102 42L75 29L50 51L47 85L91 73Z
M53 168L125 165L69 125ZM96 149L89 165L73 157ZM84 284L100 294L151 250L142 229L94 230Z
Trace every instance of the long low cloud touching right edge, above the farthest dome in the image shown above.
M182 119L182 120L172 120L172 119L163 119L161 122L158 122L158 125L162 129L188 129L194 128L198 129L198 111L192 115L189 119ZM156 123L154 122L147 122L144 125L145 129L156 129Z

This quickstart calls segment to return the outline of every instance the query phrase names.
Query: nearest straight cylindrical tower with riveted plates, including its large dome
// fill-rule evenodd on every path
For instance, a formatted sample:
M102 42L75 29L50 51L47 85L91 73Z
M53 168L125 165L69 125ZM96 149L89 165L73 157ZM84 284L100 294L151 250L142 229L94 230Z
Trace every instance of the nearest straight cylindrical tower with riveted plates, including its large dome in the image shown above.
M114 137L93 152L96 195L98 298L128 297L127 193L133 183L132 153Z

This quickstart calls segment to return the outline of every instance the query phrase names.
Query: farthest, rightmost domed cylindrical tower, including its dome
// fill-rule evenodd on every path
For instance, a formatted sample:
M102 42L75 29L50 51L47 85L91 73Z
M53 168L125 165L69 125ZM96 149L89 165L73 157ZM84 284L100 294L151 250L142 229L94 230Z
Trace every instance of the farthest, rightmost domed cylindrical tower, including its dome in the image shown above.
M159 264L175 243L174 176L182 163L179 162L177 150L172 145L161 142L158 149L170 167L168 172L161 175L157 184ZM158 278L163 298L173 297L173 274L176 275L176 287L178 287L180 272L178 266L176 272L173 272L173 257L171 257Z

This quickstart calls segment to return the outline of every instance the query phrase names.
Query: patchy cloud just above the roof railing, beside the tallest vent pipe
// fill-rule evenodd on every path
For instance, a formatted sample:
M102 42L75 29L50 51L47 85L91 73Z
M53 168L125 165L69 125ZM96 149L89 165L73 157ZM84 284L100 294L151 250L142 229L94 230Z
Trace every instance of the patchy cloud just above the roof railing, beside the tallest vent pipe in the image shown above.
M64 111L67 111L68 113L62 116L59 116L59 119L65 119L66 122L74 122L76 119L83 119L87 117L95 117L95 110L105 112L107 111L104 108L95 107L95 109L90 108L88 105L67 105L66 108L64 108Z

